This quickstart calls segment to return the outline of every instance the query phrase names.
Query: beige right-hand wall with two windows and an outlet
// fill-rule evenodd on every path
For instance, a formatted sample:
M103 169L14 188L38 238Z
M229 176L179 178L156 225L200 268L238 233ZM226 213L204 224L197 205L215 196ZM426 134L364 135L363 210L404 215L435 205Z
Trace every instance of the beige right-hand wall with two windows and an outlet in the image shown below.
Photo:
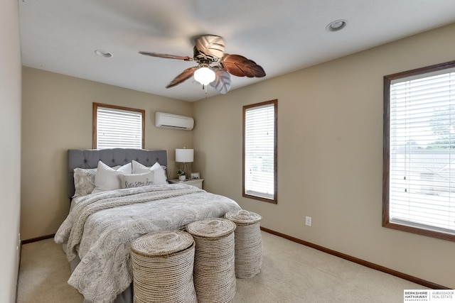
M454 60L454 34L452 24L197 101L194 166L205 189L261 214L274 231L455 288L454 242L381 226L383 76ZM241 192L242 106L271 99L277 205Z

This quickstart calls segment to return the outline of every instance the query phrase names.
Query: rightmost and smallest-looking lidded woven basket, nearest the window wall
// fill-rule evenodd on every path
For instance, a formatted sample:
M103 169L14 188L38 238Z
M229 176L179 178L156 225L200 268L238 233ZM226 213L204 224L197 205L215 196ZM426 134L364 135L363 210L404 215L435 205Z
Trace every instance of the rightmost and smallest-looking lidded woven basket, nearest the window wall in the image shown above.
M262 217L251 211L230 211L225 218L237 224L235 228L235 276L254 277L261 271L262 238L259 221Z

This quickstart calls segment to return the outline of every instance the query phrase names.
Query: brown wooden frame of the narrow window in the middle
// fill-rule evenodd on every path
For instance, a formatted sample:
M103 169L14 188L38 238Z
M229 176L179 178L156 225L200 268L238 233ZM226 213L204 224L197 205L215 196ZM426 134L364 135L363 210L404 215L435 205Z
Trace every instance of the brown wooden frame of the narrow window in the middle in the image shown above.
M269 104L273 104L274 106L274 194L273 194L273 199L269 199L267 197L259 197L259 196L255 196L255 195L252 195L252 194L247 194L245 192L246 188L245 188L245 165L246 165L246 159L245 159L245 153L246 153L246 149L245 149L245 139L246 139L246 135L245 135L245 122L246 122L246 112L247 110L249 109L253 109L255 107L262 107L262 106L267 106ZM278 204L278 173L277 173L277 167L278 167L278 164L277 164L277 150L278 150L278 99L274 99L274 100L269 100L269 101L263 101L263 102L259 102L259 103L255 103L255 104L249 104L249 105L245 105L243 106L243 116L242 116L242 120L243 120L243 136L242 136L242 197L246 197L246 198L250 198L250 199L256 199L256 200L259 200L259 201L262 201L262 202L269 202L269 203L272 203L272 204Z

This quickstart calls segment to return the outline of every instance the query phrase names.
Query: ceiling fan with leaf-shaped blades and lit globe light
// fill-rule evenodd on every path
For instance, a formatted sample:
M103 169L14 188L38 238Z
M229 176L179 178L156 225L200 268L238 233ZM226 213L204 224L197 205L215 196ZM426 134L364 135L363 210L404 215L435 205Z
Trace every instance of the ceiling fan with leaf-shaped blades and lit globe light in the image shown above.
M197 66L183 70L166 86L166 89L175 87L194 76L194 79L202 84L203 89L210 84L220 94L226 94L230 89L230 75L237 77L265 76L264 69L255 61L241 55L224 53L225 41L218 35L199 35L194 44L193 57L149 52L139 52L139 54L198 62Z

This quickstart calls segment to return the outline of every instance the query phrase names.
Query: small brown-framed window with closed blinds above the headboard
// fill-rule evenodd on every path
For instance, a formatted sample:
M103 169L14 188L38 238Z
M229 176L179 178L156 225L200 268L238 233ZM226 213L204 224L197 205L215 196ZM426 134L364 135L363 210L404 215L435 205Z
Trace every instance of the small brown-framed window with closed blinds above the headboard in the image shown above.
M144 148L142 109L93 104L93 148Z

